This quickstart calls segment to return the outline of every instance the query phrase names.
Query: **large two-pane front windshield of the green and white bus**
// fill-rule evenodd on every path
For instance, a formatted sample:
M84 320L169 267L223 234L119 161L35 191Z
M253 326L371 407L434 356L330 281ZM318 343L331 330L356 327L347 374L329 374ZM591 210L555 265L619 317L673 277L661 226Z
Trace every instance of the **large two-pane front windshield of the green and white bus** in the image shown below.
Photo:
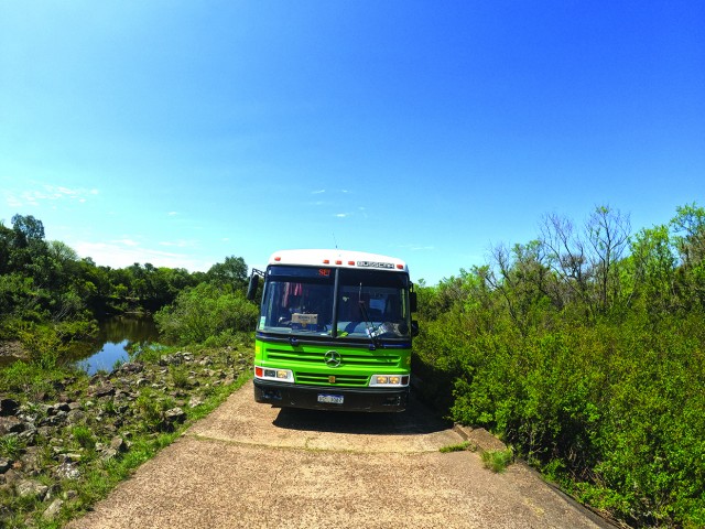
M258 331L343 341L409 341L409 274L336 267L267 269Z

